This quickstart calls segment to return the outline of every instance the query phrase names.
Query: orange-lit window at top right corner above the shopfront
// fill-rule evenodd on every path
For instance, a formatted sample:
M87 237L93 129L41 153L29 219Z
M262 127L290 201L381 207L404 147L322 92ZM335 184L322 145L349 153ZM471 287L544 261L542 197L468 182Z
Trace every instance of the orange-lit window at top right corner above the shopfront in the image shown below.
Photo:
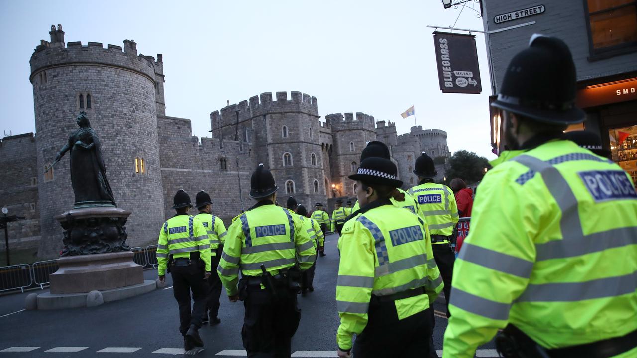
M586 0L590 55L637 50L636 0Z

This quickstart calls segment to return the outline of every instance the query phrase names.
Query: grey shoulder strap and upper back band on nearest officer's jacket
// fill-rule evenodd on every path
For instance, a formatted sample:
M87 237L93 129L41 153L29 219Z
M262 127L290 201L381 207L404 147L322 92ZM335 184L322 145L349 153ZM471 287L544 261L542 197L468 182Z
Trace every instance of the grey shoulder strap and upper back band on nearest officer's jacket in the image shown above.
M557 158L561 157L566 156L561 155ZM548 191L562 211L560 220L562 240L536 244L536 261L591 254L607 248L624 247L637 243L637 227L619 227L584 235L578 211L578 201L564 176L550 163L553 159L545 162L530 155L519 155L512 160L533 171L540 172Z

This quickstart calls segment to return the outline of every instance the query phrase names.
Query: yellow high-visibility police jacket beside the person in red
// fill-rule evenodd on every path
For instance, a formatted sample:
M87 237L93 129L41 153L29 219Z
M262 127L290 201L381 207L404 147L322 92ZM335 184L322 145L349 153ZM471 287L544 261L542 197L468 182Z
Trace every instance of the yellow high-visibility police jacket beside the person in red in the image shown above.
M419 204L432 235L450 236L458 223L454 192L447 185L423 183L407 190Z

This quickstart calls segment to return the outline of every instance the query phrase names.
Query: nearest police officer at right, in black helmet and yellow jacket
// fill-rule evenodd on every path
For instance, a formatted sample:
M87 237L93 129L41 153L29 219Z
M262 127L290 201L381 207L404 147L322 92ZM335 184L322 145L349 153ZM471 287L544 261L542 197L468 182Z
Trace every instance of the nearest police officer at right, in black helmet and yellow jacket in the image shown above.
M561 39L534 35L492 106L506 146L476 196L455 264L443 354L637 357L637 194L617 164L561 140L575 107Z

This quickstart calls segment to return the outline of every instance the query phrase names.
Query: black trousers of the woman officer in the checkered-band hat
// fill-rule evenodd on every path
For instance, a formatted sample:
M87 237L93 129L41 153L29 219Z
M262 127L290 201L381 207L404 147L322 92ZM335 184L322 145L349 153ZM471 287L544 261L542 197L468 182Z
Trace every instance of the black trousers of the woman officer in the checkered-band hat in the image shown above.
M393 301L370 303L368 324L354 341L354 357L427 357L433 333L430 310L398 320Z

